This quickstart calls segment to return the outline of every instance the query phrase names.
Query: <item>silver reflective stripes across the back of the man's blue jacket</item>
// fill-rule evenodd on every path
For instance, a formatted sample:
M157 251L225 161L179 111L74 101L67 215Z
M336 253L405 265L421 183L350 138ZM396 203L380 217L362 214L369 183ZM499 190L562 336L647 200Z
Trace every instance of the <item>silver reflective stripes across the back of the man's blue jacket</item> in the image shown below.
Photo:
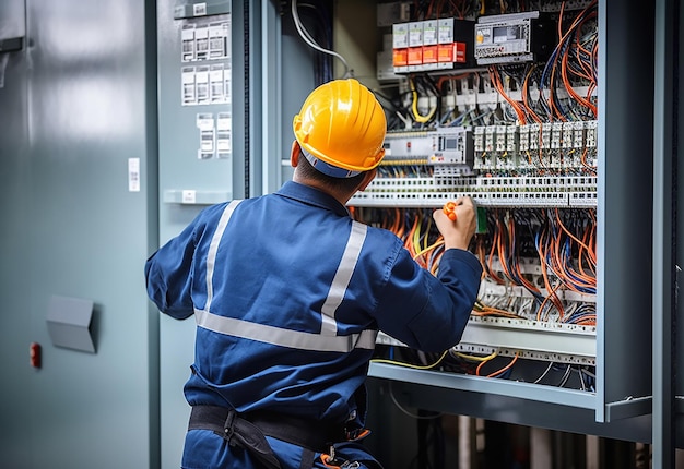
M373 350L378 334L377 330L367 329L363 330L361 334L352 334L349 336L337 335L338 323L335 321L335 313L344 299L352 274L358 262L361 249L366 239L367 227L357 221L352 221L350 238L332 279L332 285L328 290L328 297L321 308L320 334L285 329L239 318L225 317L210 312L211 302L213 300L213 275L219 244L221 243L221 239L233 216L235 207L237 207L240 202L241 201L233 201L226 205L219 220L219 225L216 226L216 231L211 239L209 252L207 253L207 305L204 310L194 309L194 317L198 327L234 337L299 350L334 352L350 352L355 348Z

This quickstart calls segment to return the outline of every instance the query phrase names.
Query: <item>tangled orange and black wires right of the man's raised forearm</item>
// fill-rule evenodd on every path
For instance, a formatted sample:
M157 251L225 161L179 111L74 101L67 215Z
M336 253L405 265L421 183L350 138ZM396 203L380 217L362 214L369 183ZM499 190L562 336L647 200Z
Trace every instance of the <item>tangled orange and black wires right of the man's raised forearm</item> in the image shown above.
M529 294L481 298L480 303L487 306L480 309L480 315L536 321L557 316L574 324L595 324L595 305L577 305L577 301L561 296L562 291L573 291L578 298L595 294L594 212L554 208L491 213L490 234L479 237L475 245L485 273L484 290L487 285L515 286ZM530 274L530 267L523 272L523 258L527 265L538 265L540 274Z

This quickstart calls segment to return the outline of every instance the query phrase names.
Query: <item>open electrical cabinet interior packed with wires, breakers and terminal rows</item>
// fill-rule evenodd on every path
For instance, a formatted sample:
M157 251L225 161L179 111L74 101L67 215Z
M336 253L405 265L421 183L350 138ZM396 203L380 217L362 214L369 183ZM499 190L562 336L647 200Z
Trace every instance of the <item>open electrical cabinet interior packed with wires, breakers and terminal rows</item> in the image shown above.
M540 14L468 1L436 11L424 2L408 20L401 9L404 16L391 25L384 15L378 27L391 29L394 56L394 74L381 81L389 101L386 158L350 206L355 217L404 239L433 273L441 248L432 211L463 195L479 206L471 250L485 276L461 342L429 363L380 335L392 357L592 393L598 11L597 2L575 2L571 10L556 3L545 2ZM458 25L459 37L468 31L463 53L475 60L417 63L418 47L422 57L433 53L425 32L432 43L436 27L439 41L440 24ZM404 46L413 63L403 63Z

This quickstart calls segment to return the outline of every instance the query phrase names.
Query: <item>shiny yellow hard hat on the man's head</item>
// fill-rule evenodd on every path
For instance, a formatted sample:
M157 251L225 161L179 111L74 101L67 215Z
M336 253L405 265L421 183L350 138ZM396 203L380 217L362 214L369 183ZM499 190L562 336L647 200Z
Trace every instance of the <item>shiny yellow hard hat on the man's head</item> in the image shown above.
M354 79L333 80L314 89L292 127L304 156L328 176L349 178L368 171L385 156L385 111Z

